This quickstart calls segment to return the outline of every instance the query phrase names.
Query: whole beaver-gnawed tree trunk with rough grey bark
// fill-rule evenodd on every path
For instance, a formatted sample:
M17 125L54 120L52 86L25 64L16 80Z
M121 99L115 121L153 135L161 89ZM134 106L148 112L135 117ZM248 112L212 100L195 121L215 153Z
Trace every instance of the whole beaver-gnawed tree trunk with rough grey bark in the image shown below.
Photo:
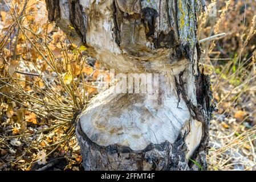
M46 0L46 5L49 19L72 42L85 44L92 57L122 73L117 74L122 81L92 98L79 115L84 168L207 169L212 91L209 76L198 67L199 1ZM147 76L144 84L152 83L149 73L157 76L154 92L134 92L136 79ZM126 85L125 74L132 84L117 93L120 82Z

